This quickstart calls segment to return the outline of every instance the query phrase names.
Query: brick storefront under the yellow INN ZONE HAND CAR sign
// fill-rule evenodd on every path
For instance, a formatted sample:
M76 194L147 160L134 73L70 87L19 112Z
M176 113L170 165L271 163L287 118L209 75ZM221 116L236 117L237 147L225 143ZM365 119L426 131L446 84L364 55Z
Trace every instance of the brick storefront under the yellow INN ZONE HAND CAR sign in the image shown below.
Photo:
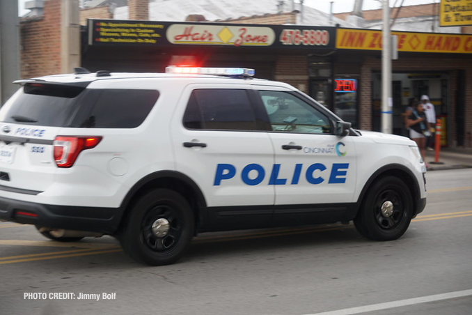
M428 95L441 119L443 146L472 146L472 36L392 32L398 59L392 61L393 133L406 135L402 112L411 98ZM381 31L338 29L336 76L359 79L359 125L381 130ZM343 100L341 100L343 102ZM337 105L336 105L337 106Z

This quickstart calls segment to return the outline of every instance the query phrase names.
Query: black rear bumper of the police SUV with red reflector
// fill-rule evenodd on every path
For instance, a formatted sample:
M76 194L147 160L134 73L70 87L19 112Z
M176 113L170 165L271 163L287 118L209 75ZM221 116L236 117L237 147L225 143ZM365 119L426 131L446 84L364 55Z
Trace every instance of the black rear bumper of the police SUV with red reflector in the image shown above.
M0 197L0 220L114 234L118 231L121 208L56 206Z

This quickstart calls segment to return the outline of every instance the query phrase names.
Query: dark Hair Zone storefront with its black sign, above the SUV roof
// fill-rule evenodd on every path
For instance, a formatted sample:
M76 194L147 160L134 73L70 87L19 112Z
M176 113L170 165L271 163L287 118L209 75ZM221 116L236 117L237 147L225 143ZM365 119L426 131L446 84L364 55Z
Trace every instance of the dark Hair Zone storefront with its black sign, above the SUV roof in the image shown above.
M162 72L166 66L254 68L331 105L336 27L88 20L89 70Z

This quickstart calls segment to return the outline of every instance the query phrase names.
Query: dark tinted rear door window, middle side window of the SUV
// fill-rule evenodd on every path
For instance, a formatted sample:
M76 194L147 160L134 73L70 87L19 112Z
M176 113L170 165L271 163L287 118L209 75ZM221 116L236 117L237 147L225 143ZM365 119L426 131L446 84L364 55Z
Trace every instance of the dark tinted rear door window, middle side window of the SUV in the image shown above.
M192 92L184 114L189 129L257 130L246 90L200 89Z

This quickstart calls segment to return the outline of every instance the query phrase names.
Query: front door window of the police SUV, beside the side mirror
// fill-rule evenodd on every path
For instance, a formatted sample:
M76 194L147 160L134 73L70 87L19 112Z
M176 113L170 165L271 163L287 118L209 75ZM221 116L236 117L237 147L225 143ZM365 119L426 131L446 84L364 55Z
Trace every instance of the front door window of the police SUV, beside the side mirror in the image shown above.
M304 100L281 91L259 91L259 94L273 131L333 133L329 118Z

